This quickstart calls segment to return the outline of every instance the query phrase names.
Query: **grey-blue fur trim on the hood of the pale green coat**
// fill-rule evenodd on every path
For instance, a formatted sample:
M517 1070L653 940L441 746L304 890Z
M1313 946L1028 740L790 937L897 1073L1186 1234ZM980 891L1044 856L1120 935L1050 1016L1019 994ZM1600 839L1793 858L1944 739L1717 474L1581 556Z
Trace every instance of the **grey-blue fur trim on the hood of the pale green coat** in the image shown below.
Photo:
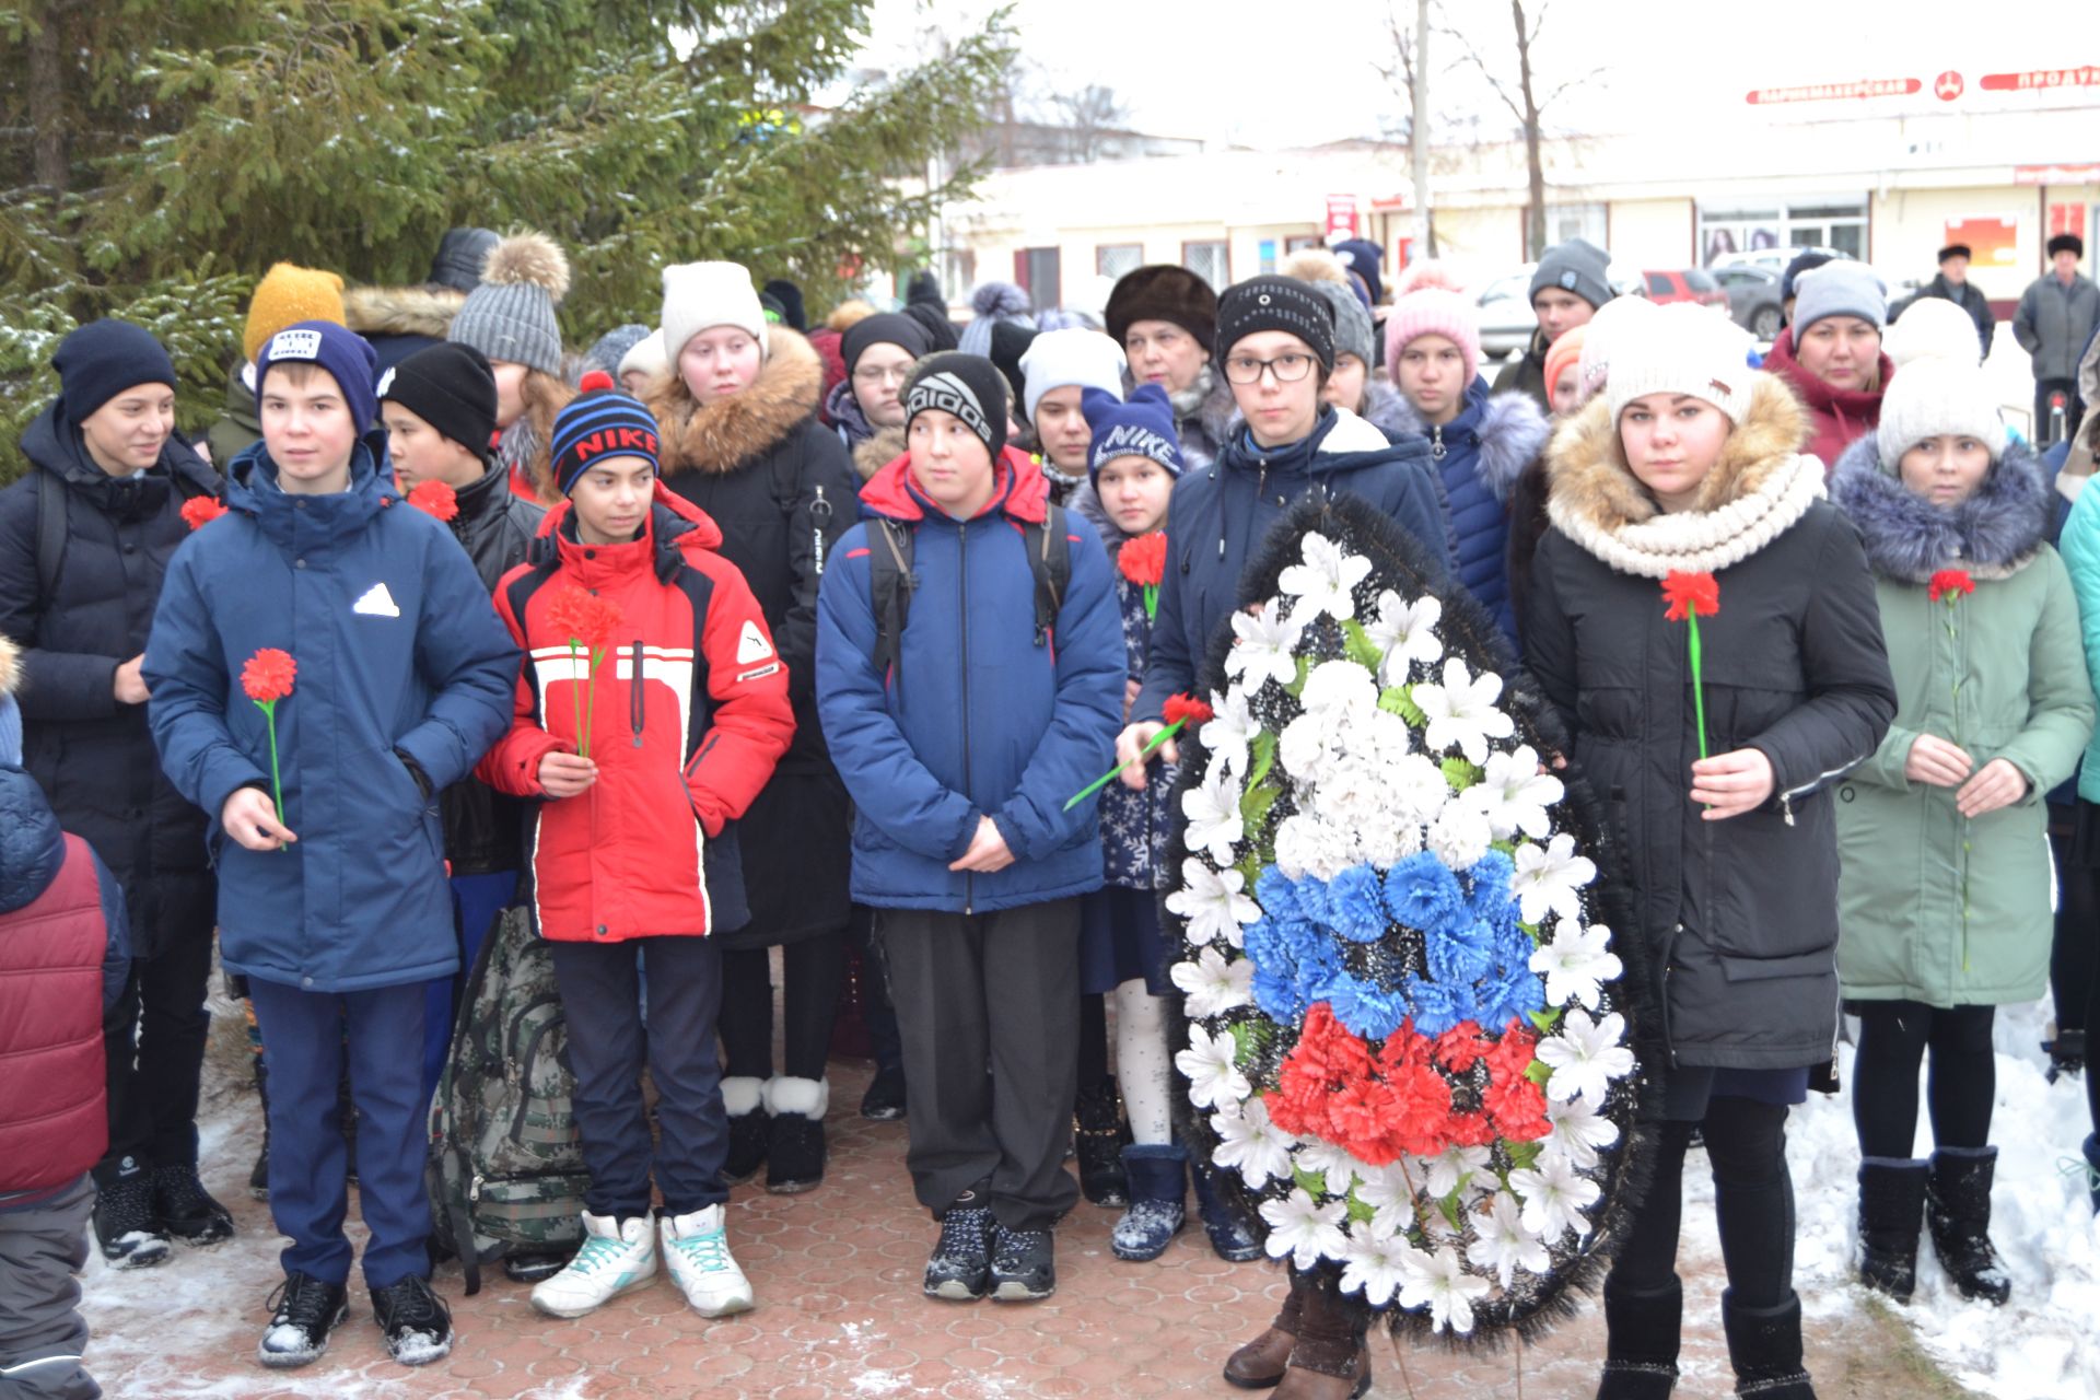
M2020 441L2006 447L1974 495L1942 508L1884 472L1869 434L1838 458L1831 502L1858 525L1875 573L1905 584L1926 584L1938 569L1984 579L2018 573L2041 552L2056 514L2041 460Z

